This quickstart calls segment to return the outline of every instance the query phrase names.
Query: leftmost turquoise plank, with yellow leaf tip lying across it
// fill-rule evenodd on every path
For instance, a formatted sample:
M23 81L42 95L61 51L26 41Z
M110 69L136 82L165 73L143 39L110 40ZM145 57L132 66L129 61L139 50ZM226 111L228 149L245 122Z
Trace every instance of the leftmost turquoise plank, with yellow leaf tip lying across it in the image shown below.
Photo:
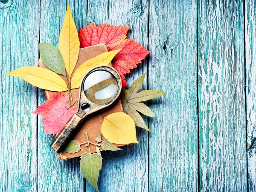
M37 89L3 73L37 64L39 3L0 1L0 191L36 191Z

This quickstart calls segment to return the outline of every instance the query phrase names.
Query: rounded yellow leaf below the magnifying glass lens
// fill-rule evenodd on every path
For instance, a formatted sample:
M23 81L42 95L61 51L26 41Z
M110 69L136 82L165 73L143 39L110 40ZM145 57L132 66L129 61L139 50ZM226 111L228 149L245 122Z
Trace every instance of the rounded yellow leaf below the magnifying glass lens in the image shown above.
M104 117L102 134L111 143L129 144L139 143L133 119L124 112L112 113Z

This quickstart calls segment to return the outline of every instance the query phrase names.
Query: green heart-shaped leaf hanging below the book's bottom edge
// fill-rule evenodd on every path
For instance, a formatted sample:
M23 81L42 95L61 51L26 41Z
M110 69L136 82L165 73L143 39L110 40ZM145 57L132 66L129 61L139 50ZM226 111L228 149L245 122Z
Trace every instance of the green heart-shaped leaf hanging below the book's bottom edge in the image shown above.
M102 158L96 153L83 153L80 160L80 171L84 178L97 190L99 170L102 168Z

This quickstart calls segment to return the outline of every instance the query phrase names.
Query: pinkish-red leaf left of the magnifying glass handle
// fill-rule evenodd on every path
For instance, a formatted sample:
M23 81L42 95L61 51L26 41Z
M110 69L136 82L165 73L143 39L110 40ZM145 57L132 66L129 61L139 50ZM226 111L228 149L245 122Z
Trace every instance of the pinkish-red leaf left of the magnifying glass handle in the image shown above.
M55 93L49 100L32 112L43 116L42 122L45 134L55 135L70 120L73 114L76 113L77 107L67 109L69 97L64 93Z

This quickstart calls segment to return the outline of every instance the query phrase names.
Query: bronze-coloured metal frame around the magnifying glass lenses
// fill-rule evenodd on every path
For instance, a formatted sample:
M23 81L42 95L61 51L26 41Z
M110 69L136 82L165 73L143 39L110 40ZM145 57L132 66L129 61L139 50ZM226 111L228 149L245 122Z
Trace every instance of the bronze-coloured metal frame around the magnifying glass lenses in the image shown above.
M84 94L84 81L86 79L86 77L88 75L90 75L91 73L95 72L95 71L107 71L107 72L110 72L115 78L116 78L116 81L118 83L118 92L116 93L116 96L111 100L109 101L108 103L104 103L104 104L98 104L98 103L93 103L92 101L90 101L86 95ZM78 103L78 110L77 110L77 114L80 115L81 117L85 117L86 115L89 115L93 112L96 112L100 109L103 109L103 106L109 106L111 105L113 102L116 101L116 99L119 97L120 93L121 93L121 90L122 90L122 79L121 79L121 76L119 75L119 73L116 71L116 69L114 69L113 67L111 66L105 66L105 65L102 65L102 66L96 66L92 69L90 69L90 71L88 71L84 77L82 78L82 81L81 81L81 84L80 84L80 89L79 89L79 103ZM82 95L82 92L84 95ZM81 102L81 95L83 97L83 102ZM83 103L89 103L91 105L91 110L89 112L84 112L81 110L81 105ZM93 107L94 106L94 107Z

